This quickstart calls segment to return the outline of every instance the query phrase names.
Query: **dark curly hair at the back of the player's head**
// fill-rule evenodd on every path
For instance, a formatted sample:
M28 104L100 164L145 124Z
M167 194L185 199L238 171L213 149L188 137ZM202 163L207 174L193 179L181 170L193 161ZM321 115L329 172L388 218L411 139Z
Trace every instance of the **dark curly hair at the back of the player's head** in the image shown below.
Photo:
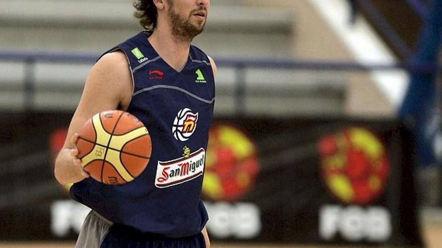
M157 26L158 12L153 0L135 0L134 16L140 19L140 25L146 31L152 32Z

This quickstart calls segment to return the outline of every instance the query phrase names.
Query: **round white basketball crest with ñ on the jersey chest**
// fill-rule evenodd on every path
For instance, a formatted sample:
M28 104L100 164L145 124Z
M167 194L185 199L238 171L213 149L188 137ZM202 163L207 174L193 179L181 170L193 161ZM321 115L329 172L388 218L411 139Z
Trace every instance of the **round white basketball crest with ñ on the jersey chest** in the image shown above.
M172 126L173 137L176 140L186 141L192 136L196 129L198 113L192 113L192 110L181 109L175 117Z

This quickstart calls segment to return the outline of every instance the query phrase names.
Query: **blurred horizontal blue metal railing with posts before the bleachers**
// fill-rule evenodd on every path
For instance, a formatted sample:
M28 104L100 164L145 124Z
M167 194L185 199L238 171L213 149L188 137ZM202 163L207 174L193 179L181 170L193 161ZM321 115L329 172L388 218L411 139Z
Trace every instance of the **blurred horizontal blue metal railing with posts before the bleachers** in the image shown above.
M32 109L35 95L35 65L37 62L93 64L98 54L32 52L32 51L0 51L0 61L25 63L25 108ZM391 71L406 70L409 72L431 73L436 65L413 65L409 63L392 64L359 64L349 61L300 61L290 59L240 59L217 58L218 67L233 67L236 70L235 96L237 114L245 113L244 96L246 92L246 69L297 69L309 71Z

